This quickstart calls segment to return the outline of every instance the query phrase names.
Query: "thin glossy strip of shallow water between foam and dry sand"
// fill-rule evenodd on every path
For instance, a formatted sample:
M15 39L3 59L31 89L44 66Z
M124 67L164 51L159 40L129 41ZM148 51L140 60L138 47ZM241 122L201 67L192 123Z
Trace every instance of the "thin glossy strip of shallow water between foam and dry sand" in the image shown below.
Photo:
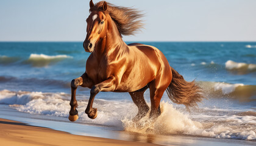
M43 114L21 113L9 105L0 105L1 118L18 120L38 127L48 127L54 130L66 131L82 136L105 137L123 141L150 142L160 145L255 145L255 141L237 139L213 139L200 136L157 135L127 132L113 127L87 125L81 122L69 122L67 118L46 116Z

